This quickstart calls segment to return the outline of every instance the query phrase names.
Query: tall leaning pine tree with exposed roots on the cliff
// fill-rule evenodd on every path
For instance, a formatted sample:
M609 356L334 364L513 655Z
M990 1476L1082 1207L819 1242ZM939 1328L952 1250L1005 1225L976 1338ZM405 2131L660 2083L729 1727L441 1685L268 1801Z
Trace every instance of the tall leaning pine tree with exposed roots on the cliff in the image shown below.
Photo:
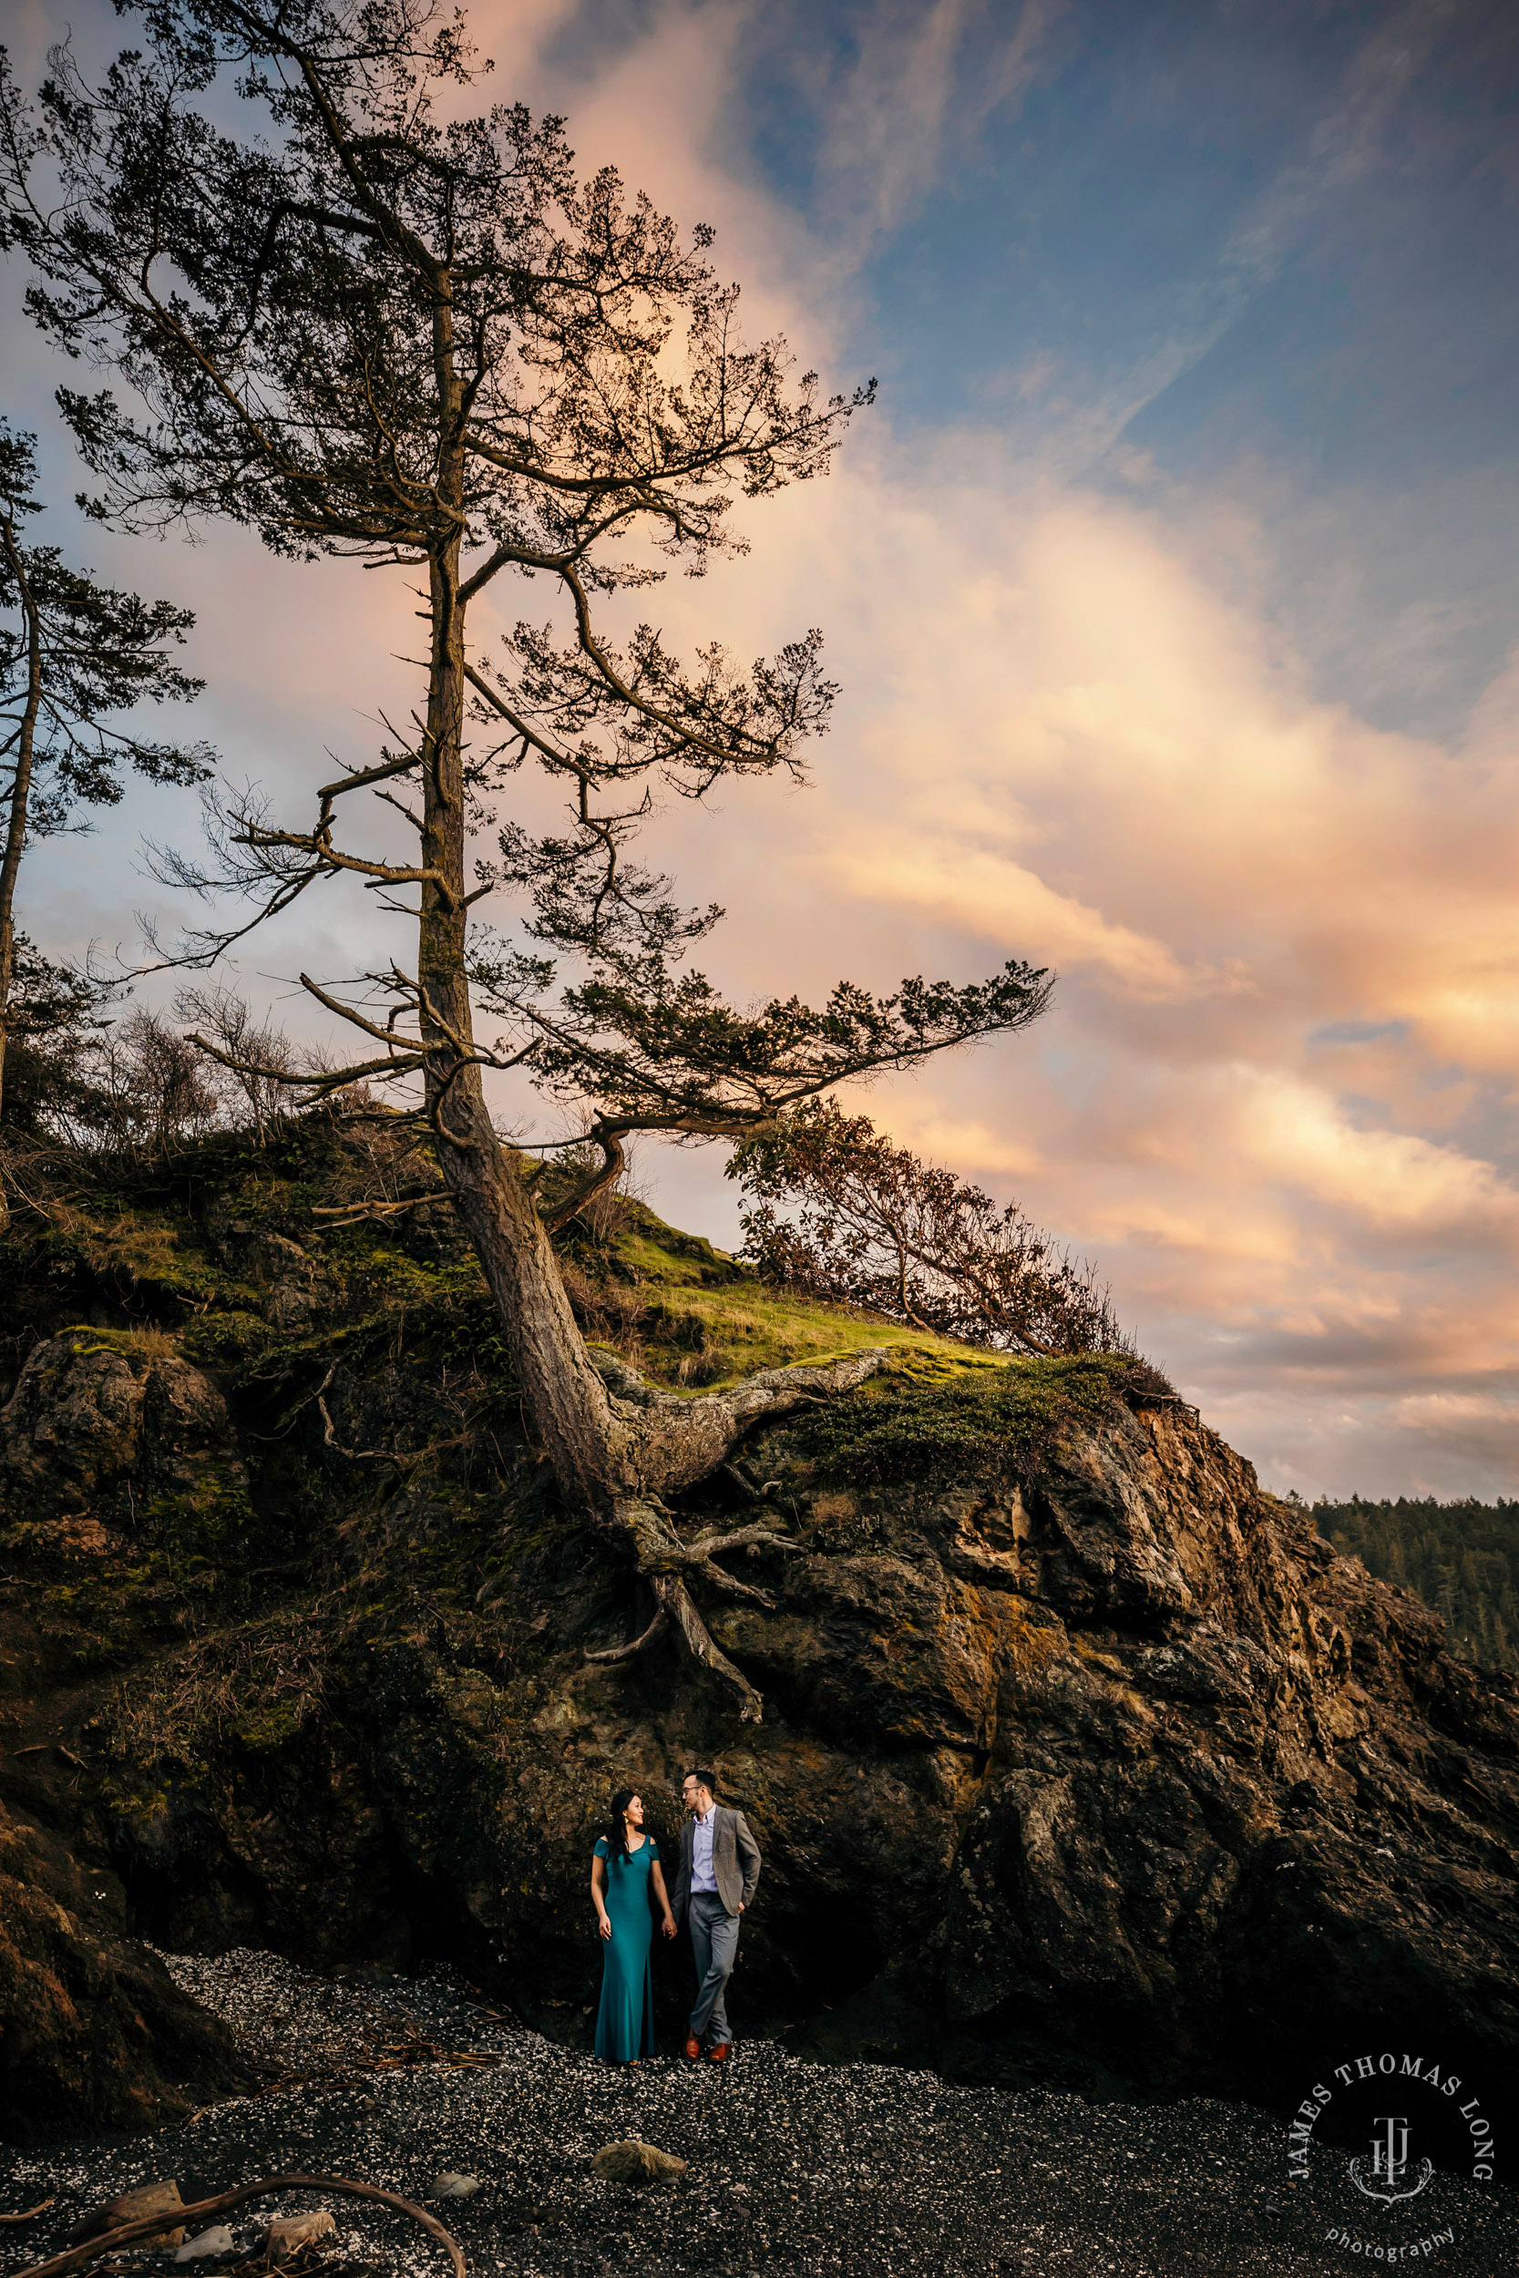
M178 877L241 886L248 925L342 875L392 907L414 888L410 968L348 995L305 980L367 1039L312 1093L419 1084L558 1488L631 1540L654 1588L654 1629L624 1652L676 1622L756 1715L688 1579L754 1595L713 1551L761 1531L681 1542L660 1490L879 1355L656 1394L588 1353L551 1232L617 1175L631 1132L742 1139L1045 1005L1048 977L1013 961L979 986L840 984L822 1009L736 1009L685 964L720 911L681 911L629 857L658 790L797 775L834 688L818 633L745 672L715 642L681 661L647 622L615 640L608 601L665 563L695 576L740 551L733 497L822 474L868 390L822 399L811 376L790 380L783 342L745 344L736 292L704 262L711 232L688 246L615 173L576 178L560 121L453 116L471 50L433 0L157 0L143 16L146 48L98 89L68 50L36 112L7 82L0 128L5 230L36 271L39 323L148 408L59 392L96 510L121 528L223 515L280 556L396 565L428 626L426 697L373 765L317 777L298 822L221 804L221 861ZM225 132L232 93L264 134ZM471 654L469 606L508 576L537 579L556 615ZM524 765L567 795L549 836L501 820ZM355 843L355 793L403 818L410 859ZM517 895L512 934L471 932L492 893ZM205 936L203 959L237 934ZM553 1210L496 1139L487 1068L526 1071L585 1114L597 1169Z

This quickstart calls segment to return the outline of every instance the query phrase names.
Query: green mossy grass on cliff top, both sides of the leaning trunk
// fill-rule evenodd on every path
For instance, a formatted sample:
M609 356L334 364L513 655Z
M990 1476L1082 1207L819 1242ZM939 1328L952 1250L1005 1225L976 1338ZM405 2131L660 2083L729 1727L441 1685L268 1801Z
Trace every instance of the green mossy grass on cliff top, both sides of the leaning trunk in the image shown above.
M378 1214L342 1223L335 1205ZM271 1305L248 1248L262 1235L305 1253L305 1312L280 1319ZM173 1339L232 1396L241 1387L264 1410L257 1428L271 1449L332 1360L358 1376L417 1369L442 1394L446 1433L490 1428L503 1444L522 1440L501 1319L410 1130L355 1137L312 1116L266 1148L216 1134L194 1160L148 1169L137 1185L116 1175L93 1194L75 1187L48 1226L30 1235L16 1226L5 1253L34 1296L73 1283L91 1298L93 1321L105 1301L121 1321L116 1335L143 1346ZM576 1223L560 1260L588 1342L674 1392L722 1392L763 1369L884 1346L893 1355L884 1378L795 1431L808 1458L859 1483L1007 1474L1064 1417L1100 1412L1125 1367L1086 1355L1009 1362L795 1296L626 1196L604 1198L594 1226Z

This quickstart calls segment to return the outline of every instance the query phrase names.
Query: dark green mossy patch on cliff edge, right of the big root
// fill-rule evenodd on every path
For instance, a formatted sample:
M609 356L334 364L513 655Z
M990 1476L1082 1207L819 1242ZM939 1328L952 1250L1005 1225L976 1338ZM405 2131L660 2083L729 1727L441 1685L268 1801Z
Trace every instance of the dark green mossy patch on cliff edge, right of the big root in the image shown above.
M793 1447L829 1478L897 1485L1016 1481L1064 1424L1095 1421L1127 1371L1118 1355L954 1360L920 1351L847 1401L793 1428Z

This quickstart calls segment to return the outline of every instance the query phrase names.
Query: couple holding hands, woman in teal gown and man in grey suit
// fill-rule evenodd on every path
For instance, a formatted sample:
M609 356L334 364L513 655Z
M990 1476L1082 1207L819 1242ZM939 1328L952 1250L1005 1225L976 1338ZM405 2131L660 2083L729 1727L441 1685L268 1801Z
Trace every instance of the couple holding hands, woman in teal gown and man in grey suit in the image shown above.
M717 1804L715 1772L688 1772L681 1802L690 1816L681 1829L674 1898L665 1893L658 1843L644 1834L644 1806L633 1788L613 1795L610 1827L590 1863L590 1902L604 1939L597 2055L606 2064L638 2064L654 2055L651 1904L665 1918L667 1939L681 1920L690 1923L697 2007L690 2011L685 2055L699 2057L706 2046L711 2062L722 2064L733 2046L724 1996L738 1955L738 1918L758 1882L758 1843L742 1811Z

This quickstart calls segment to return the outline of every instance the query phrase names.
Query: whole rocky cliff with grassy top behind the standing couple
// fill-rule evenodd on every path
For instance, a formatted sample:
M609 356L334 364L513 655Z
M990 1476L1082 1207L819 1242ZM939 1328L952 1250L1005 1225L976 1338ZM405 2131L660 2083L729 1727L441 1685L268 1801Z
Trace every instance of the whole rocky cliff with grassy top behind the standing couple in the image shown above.
M237 2078L141 1941L462 1964L588 2041L613 1784L713 1759L765 1850L738 2030L1089 2093L1303 2093L1519 2052L1519 1693L1444 1652L1146 1371L793 1305L624 1205L569 1278L674 1387L870 1342L886 1374L681 1519L767 1513L644 1626L558 1508L424 1162L312 1123L18 1221L0 1417L0 2112L134 2125ZM679 1957L660 2007L679 2016Z

